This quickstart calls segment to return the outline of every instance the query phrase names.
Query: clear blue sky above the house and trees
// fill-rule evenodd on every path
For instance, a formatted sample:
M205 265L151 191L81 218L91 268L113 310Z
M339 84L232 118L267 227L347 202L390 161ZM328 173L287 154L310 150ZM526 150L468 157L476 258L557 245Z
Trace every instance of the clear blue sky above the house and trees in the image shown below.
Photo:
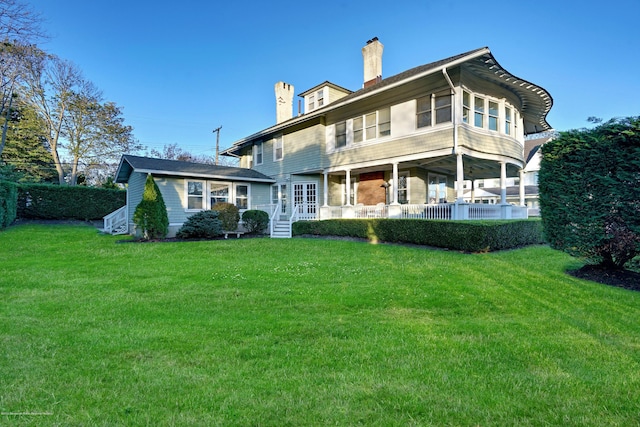
M384 44L383 77L488 46L554 99L557 130L640 115L640 1L24 0L43 48L74 62L149 149L213 156L275 123L277 81L299 94L362 86L361 48ZM297 100L294 101L297 113Z

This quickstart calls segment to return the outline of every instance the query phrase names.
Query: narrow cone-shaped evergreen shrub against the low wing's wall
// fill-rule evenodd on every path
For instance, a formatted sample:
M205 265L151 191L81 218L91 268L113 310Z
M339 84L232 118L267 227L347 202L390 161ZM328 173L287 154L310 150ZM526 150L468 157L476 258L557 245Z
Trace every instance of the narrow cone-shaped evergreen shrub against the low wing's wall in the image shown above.
M167 206L151 174L147 175L142 201L136 207L133 222L142 230L145 239L161 239L169 231Z

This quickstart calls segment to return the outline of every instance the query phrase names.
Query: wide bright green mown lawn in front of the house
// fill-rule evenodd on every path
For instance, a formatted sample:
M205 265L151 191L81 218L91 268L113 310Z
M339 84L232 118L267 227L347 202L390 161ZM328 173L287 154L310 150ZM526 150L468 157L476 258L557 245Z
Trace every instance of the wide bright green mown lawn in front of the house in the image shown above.
M0 232L0 425L640 425L640 293L547 247Z

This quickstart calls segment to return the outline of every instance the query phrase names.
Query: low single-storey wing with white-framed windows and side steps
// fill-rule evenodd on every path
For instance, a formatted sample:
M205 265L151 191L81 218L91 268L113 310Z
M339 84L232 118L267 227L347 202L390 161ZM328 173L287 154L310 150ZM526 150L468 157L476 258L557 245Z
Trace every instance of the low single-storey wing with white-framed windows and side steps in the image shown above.
M169 236L186 219L217 202L234 203L241 211L270 200L275 180L251 169L124 155L115 182L127 184L127 204L105 217L104 229L134 233L133 213L142 200L147 175L154 177L169 217Z

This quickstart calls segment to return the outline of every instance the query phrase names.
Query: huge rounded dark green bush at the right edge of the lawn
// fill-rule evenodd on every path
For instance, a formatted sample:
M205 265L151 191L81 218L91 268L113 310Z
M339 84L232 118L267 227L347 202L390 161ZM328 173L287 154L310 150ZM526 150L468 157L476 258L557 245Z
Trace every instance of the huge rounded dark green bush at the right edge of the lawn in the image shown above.
M560 132L542 155L540 211L551 247L624 268L640 254L640 117Z

